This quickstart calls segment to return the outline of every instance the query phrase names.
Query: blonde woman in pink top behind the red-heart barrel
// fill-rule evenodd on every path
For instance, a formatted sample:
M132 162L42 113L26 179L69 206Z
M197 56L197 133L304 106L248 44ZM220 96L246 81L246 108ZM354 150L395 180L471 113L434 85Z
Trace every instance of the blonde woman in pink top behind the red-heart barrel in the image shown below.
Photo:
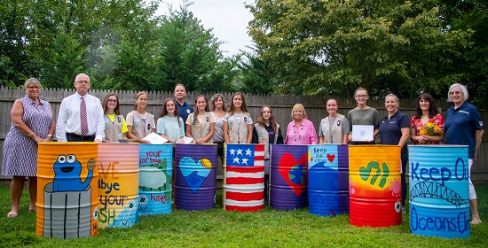
M301 104L293 106L291 111L291 118L293 119L287 127L287 136L285 137L286 144L317 144L317 132L313 127L313 123L307 119L307 112Z

